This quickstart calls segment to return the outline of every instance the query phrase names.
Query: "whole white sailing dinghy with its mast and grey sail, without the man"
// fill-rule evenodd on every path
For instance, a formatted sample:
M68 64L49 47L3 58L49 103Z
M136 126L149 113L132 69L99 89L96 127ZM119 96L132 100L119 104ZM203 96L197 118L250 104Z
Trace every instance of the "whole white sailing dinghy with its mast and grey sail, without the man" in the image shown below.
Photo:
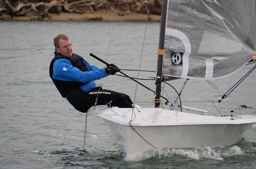
M255 22L255 0L163 0L156 100L161 98L163 74L165 78L209 80L243 67L255 53ZM256 122L253 114L204 116L159 105L134 109L93 106L88 112L103 119L126 156L152 147L232 145Z

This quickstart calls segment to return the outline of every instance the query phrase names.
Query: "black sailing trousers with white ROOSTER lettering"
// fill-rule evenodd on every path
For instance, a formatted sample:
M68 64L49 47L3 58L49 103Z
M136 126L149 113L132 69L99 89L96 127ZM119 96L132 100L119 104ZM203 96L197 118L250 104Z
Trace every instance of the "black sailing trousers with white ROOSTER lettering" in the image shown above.
M132 108L132 100L128 95L111 90L102 89L101 87L93 88L84 92L81 100L75 107L78 111L86 113L87 110L95 105L98 95L97 105L117 106L119 108Z

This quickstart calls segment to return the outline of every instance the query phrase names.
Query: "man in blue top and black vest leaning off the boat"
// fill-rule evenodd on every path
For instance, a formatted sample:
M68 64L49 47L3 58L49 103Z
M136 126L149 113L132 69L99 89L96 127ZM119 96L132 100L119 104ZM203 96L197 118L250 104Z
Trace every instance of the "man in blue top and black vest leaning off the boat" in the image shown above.
M81 112L95 105L117 106L132 108L128 95L104 90L97 87L94 80L113 75L120 71L114 64L107 68L90 65L81 56L73 53L72 44L67 35L59 34L54 38L54 58L50 64L50 77L59 90L75 109Z

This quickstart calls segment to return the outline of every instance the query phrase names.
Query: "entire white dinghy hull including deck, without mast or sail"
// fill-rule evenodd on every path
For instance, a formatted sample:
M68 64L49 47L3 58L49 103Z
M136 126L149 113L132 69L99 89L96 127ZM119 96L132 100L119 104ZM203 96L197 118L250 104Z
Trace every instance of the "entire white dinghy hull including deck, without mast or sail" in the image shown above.
M148 121L140 123L140 121L134 120L131 125L152 146L131 128L128 120L129 116L127 116L130 112L126 111L127 109L123 109L123 113L118 113L119 116L116 112L122 109L107 109L103 111L91 109L89 112L102 117L112 137L126 156L141 153L153 146L160 148L196 148L232 145L239 142L244 132L256 122L256 116L254 115L238 116L239 119L230 120L230 116L202 116L171 110L164 110L163 112L163 109L160 109L159 113L155 111L156 108L150 108L149 110L153 109L154 111L140 113L141 116L144 115L144 120L143 118L142 120L145 122L146 117ZM100 114L98 114L99 112ZM151 114L152 112L153 114ZM145 116L145 114L150 115ZM120 118L121 115L127 117L124 118L124 121L127 122ZM141 119L138 113L136 113L136 116L136 118ZM150 117L153 117L153 120ZM253 119L251 120L251 118ZM216 119L220 120L216 121Z

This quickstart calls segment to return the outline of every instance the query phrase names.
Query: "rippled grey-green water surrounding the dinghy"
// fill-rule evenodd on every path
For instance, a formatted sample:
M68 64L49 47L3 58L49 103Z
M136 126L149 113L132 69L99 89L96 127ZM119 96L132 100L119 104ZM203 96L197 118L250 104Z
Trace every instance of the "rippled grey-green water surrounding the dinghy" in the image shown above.
M255 168L256 125L243 139L224 148L152 149L130 161L111 138L105 123L88 115L86 145L83 147L85 114L76 111L60 96L49 77L53 57L53 38L60 32L67 34L73 51L92 65L103 64L89 56L93 53L120 68L138 69L144 39L145 22L117 22L109 52L112 22L0 22L0 168ZM148 23L142 70L156 70L159 23ZM231 86L254 64L231 75ZM137 72L125 71L132 77ZM140 77L155 77L154 73L140 73ZM231 102L255 107L256 72L249 75L232 93ZM155 90L154 81L141 81ZM170 81L180 90L184 79ZM182 92L183 105L205 109L219 116L211 102L229 89L229 77L213 80L219 89L206 81L189 80ZM100 81L97 81L100 84ZM123 77L109 76L101 86L130 95L134 100L136 83ZM164 89L171 101L176 94L169 86ZM164 96L166 94L164 93ZM138 86L135 102L147 107L154 94ZM230 101L226 98L223 101ZM230 104L215 102L223 115L230 112ZM231 105L235 114L239 106ZM255 111L255 110L254 110ZM241 114L252 113L241 108ZM236 132L236 131L234 131Z

